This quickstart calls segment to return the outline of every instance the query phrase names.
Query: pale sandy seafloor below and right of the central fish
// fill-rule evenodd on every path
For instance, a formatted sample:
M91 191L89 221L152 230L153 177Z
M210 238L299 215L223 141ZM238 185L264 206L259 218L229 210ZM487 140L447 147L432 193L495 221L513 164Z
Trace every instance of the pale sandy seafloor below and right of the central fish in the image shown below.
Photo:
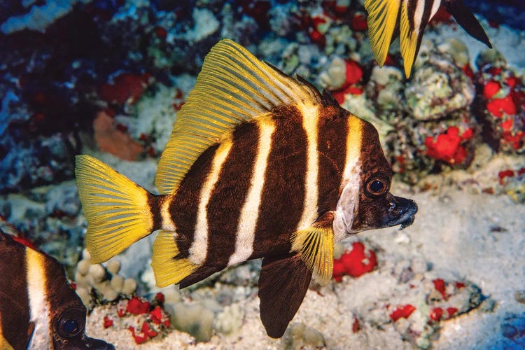
M412 198L419 205L414 224L402 231L387 228L360 233L357 237L374 247L378 268L355 279L345 276L341 283L331 281L320 289L314 286L292 323L320 331L327 349L415 348L414 342L402 337L407 321L401 318L395 323L385 322L383 316L378 326L375 322L381 316L368 318L366 309L377 314L381 313L378 305L414 300L408 283L398 283L395 270L405 262L422 260L428 265L427 279L434 276L470 281L495 302L492 311L478 307L440 321L440 330L431 337L433 349L519 349L524 344L523 334L513 342L502 335L502 324L511 314L518 316L514 322L525 322L525 304L514 297L515 292L525 288L525 206L507 195L489 195L478 188L496 181L489 176L495 167L520 162L523 160L496 157L475 171L433 176L428 179L433 189L425 192L414 193L405 184L395 184L392 193ZM131 176L135 167L139 169L130 163L125 171ZM414 304L421 308L423 302L417 302L416 297ZM95 308L88 318L87 334L113 342L117 349L285 348L282 339L265 334L256 293L238 304L246 312L241 328L230 335L214 335L209 342L194 342L187 333L172 330L163 339L137 346L129 330L102 327L102 318L107 314L104 307ZM408 322L417 322L418 312L414 311ZM358 332L352 331L354 314L365 318Z

